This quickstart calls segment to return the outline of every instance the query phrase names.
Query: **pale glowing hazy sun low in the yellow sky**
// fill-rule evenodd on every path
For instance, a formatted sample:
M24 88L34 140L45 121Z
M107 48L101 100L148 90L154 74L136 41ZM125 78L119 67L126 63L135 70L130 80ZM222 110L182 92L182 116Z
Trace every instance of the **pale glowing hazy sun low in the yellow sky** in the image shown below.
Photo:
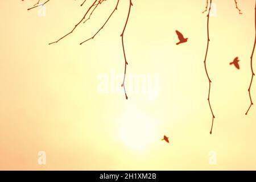
M131 149L144 150L148 144L159 139L156 121L135 108L127 109L119 122L121 140Z

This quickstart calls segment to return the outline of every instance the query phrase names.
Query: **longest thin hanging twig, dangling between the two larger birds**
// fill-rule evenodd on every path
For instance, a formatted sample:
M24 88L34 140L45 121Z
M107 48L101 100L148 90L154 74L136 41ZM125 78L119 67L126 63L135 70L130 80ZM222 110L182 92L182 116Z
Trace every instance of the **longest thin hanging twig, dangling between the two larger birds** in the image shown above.
M208 3L208 1L207 1ZM209 81L209 92L208 92L208 103L209 103L209 107L210 107L210 111L212 113L212 127L210 129L210 134L212 134L212 128L213 128L213 121L214 121L214 114L213 114L213 110L212 110L212 106L210 105L210 86L212 84L212 81L210 80L210 77L208 75L208 71L207 71L207 64L206 64L206 61L207 61L207 53L208 53L208 48L209 48L209 42L210 42L210 38L209 38L209 16L210 16L210 8L212 7L212 0L210 0L210 7L209 7L209 11L208 11L208 15L207 15L207 50L206 50L206 53L205 53L205 58L204 58L204 68L205 68L205 73L207 74L207 78L208 78L208 81Z

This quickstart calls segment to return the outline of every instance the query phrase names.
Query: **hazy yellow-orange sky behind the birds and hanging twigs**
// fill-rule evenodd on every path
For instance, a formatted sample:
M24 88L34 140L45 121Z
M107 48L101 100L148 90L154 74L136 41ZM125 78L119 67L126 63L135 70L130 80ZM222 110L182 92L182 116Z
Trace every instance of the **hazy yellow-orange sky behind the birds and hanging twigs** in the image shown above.
M0 169L255 170L252 0L0 1ZM175 30L188 38L176 46ZM229 65L239 57L240 69ZM256 57L256 56L255 56ZM256 68L254 67L256 70ZM256 102L256 82L251 96ZM170 143L161 139L166 135Z

